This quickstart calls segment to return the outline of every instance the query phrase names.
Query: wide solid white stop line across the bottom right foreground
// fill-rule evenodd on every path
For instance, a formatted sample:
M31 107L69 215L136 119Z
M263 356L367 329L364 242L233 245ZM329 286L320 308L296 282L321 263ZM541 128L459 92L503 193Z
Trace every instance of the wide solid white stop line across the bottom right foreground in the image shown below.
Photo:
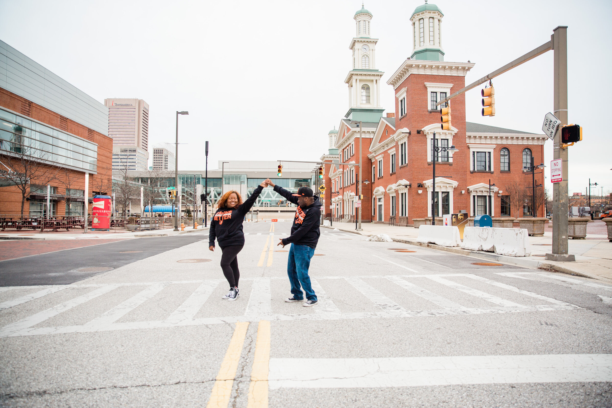
M609 382L612 355L271 358L268 379L271 390Z

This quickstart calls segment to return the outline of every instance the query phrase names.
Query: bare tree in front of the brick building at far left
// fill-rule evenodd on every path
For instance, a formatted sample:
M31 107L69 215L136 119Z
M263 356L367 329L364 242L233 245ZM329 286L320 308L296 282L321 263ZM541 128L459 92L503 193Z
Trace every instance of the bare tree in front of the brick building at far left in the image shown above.
M57 179L59 168L47 163L51 154L28 146L31 139L13 135L11 141L0 139L0 157L10 171L10 179L21 192L21 215L30 195L31 183L47 185Z

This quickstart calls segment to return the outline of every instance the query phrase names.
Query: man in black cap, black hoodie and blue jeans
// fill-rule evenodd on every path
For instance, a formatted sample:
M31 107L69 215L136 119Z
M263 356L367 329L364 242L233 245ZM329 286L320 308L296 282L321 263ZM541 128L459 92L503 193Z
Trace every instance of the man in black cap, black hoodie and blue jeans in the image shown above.
M289 260L287 261L287 275L289 275L293 296L285 299L285 302L304 300L304 294L302 294L302 289L304 289L307 301L302 306L313 306L317 299L315 291L312 290L310 285L308 267L310 267L310 259L315 254L316 243L321 235L319 231L321 201L313 195L310 187L300 187L297 194L291 194L291 191L275 185L271 179L266 179L264 183L274 187L274 191L285 197L287 201L297 204L296 215L291 226L291 235L288 238L280 239L277 244L285 248L285 245L291 243Z

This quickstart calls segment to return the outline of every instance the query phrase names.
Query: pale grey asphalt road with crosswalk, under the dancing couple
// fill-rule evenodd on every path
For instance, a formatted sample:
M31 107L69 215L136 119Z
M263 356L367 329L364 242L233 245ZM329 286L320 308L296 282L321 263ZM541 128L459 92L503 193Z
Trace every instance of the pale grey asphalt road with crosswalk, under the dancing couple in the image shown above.
M612 406L612 286L322 228L304 308L283 302L289 226L245 224L236 302L191 234L0 288L0 406Z

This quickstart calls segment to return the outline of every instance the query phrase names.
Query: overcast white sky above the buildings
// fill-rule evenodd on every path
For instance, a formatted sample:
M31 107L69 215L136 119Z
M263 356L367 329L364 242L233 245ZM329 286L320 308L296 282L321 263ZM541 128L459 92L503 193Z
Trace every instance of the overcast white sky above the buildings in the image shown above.
M476 63L466 83L569 26L569 121L584 128L569 151L570 194L586 191L589 177L612 191L610 113L599 102L612 91L612 2L431 2L444 13L445 61ZM366 1L384 82L412 53L409 18L423 3ZM343 81L360 7L360 0L0 0L0 39L101 103L144 99L151 145L174 141L175 111L189 111L179 119L187 143L179 147L181 169L204 168L205 140L211 168L217 160L318 160L348 110ZM467 120L542 133L553 111L552 74L549 51L496 78L495 117L480 116L480 88L469 91ZM381 100L394 111L391 86ZM547 166L552 149L548 142Z

